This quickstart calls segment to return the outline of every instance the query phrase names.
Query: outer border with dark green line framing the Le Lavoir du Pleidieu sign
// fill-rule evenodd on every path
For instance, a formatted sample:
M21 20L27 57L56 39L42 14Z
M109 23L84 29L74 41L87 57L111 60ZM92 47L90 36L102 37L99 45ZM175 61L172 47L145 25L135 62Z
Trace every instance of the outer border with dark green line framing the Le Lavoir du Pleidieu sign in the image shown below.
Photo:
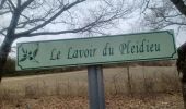
M67 65L50 65L50 66L39 66L39 68L22 68L19 64L19 48L22 46L22 44L31 44L31 43L48 43L48 41L65 41L65 40L79 40L79 39L92 39L92 38L103 38L103 37L130 37L130 35L140 35L140 34L154 34L154 33L167 33L172 36L172 41L174 44L174 52L170 57L162 57L162 58L148 58L148 59L137 59L137 60L121 60L121 61L111 61L111 62L93 62L93 63L80 63L80 64L67 64ZM20 45L19 45L20 44ZM39 41L26 41L26 43L18 43L19 45L16 47L16 65L20 66L19 71L25 71L25 70L42 70L42 69L55 69L55 68L65 68L65 66L80 66L80 65L94 65L94 64L114 64L114 63L123 63L123 62L139 62L139 61L160 61L160 60L175 60L173 59L174 55L176 55L176 46L175 46L175 37L174 37L174 31L167 29L167 31L155 31L155 32L144 32L144 33L133 33L133 34L119 34L119 35L108 35L108 36L96 36L96 37L85 37L85 38L71 38L71 39L56 39L56 40L39 40Z

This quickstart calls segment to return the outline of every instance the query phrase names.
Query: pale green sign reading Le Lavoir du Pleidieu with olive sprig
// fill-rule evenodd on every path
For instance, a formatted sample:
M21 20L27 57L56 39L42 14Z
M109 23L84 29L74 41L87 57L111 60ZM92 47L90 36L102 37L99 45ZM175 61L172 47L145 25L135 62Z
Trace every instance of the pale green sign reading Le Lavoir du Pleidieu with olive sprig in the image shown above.
M173 31L18 44L16 70L176 59Z

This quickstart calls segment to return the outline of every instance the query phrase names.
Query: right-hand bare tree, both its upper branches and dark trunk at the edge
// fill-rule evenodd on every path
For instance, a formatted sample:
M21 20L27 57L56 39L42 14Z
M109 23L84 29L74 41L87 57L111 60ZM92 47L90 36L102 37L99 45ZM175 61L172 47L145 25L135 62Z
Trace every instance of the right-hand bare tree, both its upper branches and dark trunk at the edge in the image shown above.
M185 0L142 0L143 24L161 29L176 25L178 29L186 31L186 1ZM182 89L186 109L186 43L178 49L177 70L182 72Z

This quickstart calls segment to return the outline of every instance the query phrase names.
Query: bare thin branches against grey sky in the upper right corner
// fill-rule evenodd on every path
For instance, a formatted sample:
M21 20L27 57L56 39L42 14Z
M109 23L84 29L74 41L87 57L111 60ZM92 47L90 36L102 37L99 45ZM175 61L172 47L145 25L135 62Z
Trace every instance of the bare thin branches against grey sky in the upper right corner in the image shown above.
M168 26L176 26L177 29L185 29L186 14L183 10L177 10L174 1L182 0L142 0L141 14L143 16L141 25L151 29L162 29ZM184 2L182 1L182 4ZM181 5L181 4L179 4ZM183 7L183 5L181 5Z

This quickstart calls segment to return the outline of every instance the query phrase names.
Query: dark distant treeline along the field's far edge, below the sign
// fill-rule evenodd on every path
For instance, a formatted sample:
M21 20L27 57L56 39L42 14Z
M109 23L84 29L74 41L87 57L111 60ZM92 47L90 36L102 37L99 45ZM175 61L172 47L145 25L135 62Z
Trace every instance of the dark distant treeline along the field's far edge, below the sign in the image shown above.
M172 66L175 65L174 60L166 61L148 61L148 62L124 62L117 64L106 64L104 68L115 66ZM86 66L68 66L68 68L56 68L56 69L44 69L44 70L27 70L27 71L15 71L15 59L8 58L3 76L24 76L24 75L37 75L37 74L49 74L49 73L61 73L85 70Z

